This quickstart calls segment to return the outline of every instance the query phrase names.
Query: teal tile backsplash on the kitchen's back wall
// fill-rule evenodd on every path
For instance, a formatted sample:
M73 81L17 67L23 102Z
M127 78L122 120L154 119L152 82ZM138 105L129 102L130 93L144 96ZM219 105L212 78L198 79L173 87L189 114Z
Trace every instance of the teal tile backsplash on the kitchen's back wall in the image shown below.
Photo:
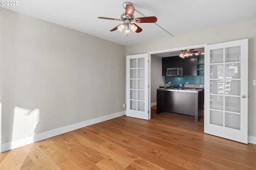
M204 71L198 71L198 76L164 76L164 83L168 84L204 84Z

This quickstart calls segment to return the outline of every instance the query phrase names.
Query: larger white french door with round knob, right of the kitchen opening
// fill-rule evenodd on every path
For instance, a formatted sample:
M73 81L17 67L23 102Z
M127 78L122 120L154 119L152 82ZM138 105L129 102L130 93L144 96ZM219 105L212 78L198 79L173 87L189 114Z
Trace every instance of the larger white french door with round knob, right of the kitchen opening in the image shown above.
M248 39L205 47L204 132L248 143Z

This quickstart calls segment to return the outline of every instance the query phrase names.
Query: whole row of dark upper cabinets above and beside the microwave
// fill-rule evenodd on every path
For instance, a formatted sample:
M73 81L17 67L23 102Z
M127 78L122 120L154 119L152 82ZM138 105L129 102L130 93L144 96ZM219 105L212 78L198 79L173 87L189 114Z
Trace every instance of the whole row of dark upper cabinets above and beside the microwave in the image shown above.
M184 59L179 56L162 58L162 76L166 76L167 68L182 67L183 76L197 75L197 56L192 55Z

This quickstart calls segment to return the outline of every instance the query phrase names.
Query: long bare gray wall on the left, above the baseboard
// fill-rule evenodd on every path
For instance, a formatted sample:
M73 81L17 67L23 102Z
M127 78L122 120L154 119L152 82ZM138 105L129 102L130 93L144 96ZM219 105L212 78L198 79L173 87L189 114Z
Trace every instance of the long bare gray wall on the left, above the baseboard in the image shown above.
M124 111L124 103L125 46L0 8L1 143L18 139L22 114L37 112L38 134Z

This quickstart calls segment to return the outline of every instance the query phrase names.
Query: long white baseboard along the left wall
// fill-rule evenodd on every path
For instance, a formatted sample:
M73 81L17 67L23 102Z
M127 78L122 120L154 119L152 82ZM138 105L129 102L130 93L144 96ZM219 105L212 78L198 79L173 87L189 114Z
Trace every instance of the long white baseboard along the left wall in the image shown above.
M18 140L15 140L15 141L2 143L0 145L0 153L5 152L7 150L15 149L15 148L18 148L18 147L22 147L22 146L28 145L30 143L41 141L43 139L54 137L54 136L57 136L57 135L60 135L60 134L63 134L63 133L67 133L69 131L74 131L76 129L86 127L88 125L93 125L95 123L100 123L102 121L113 119L113 118L116 118L116 117L119 117L119 116L122 116L122 115L125 115L125 111L121 111L121 112L118 112L118 113L113 113L113 114L102 116L102 117L97 117L97 118L94 118L94 119L82 121L80 123L75 123L75 124L68 125L68 126L65 126L65 127L60 127L60 128L57 128L57 129L52 129L50 131L46 131L46 132L39 133L39 134L30 136L30 137L25 137L25 138L22 138L22 139L18 139Z

